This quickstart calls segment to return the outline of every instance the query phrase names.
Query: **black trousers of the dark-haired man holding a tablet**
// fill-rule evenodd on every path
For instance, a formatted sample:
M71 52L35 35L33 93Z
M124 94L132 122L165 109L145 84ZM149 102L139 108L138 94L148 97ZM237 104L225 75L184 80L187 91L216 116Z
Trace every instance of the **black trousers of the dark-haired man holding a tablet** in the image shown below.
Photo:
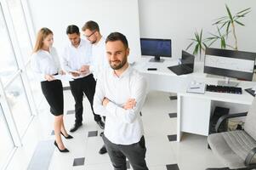
M76 124L82 123L82 96L83 94L86 95L88 101L90 102L91 109L94 113L94 94L95 94L95 87L96 82L94 80L94 76L90 74L87 77L82 77L75 79L74 81L70 82L71 85L71 93L75 99L75 112L76 112ZM98 122L101 120L99 115L94 113L94 121Z

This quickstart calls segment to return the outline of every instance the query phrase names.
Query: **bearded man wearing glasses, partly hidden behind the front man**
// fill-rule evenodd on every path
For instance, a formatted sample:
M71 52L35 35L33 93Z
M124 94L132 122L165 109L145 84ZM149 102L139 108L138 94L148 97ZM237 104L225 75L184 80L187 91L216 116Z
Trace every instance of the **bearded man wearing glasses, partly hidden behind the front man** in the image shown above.
M82 26L82 32L92 44L92 65L90 65L89 70L93 72L97 81L100 71L109 67L105 52L105 38L101 36L99 25L93 20L89 20ZM99 153L106 153L105 145L102 146Z

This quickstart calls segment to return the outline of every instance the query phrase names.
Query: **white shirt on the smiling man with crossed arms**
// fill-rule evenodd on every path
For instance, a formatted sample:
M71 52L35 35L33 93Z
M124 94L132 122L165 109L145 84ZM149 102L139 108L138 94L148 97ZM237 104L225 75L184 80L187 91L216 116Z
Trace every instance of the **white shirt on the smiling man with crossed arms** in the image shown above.
M120 77L111 68L101 72L97 80L94 94L94 111L106 116L105 137L114 144L134 144L144 134L142 120L139 115L145 102L146 82L138 71L130 65ZM102 105L104 98L110 99ZM136 105L131 110L124 110L128 99L135 99Z

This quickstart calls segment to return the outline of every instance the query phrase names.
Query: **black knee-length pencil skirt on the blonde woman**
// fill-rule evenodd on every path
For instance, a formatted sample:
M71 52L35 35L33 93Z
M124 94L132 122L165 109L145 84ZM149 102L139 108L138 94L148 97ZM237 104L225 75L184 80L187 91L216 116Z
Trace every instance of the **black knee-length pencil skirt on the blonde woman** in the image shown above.
M54 116L63 115L63 87L60 80L41 82L41 88L45 99L50 105L50 111Z

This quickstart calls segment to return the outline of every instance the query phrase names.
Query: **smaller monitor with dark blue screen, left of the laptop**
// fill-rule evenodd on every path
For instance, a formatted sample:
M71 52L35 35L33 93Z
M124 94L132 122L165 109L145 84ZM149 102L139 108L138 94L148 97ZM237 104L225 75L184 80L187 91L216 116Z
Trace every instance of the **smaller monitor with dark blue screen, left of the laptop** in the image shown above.
M172 41L170 39L140 38L142 55L155 56L151 62L163 62L160 57L172 57Z

